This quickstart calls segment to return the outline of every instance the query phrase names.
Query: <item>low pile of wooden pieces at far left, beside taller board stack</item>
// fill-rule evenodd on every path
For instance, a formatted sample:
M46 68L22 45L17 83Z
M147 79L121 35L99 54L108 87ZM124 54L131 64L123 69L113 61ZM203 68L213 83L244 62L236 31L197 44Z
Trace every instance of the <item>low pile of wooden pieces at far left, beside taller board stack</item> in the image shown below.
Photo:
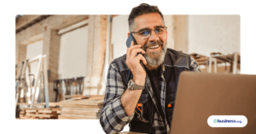
M24 109L20 111L20 120L54 120L58 119L61 109Z

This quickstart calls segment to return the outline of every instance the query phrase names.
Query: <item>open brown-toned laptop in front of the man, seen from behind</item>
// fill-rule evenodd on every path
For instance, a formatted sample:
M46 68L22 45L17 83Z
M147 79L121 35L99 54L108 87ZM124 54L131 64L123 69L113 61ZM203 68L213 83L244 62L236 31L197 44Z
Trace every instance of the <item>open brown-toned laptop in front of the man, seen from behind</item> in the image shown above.
M212 115L245 116L247 124L212 127L207 122ZM210 122L219 123L217 120ZM256 75L183 71L177 85L171 134L256 134Z

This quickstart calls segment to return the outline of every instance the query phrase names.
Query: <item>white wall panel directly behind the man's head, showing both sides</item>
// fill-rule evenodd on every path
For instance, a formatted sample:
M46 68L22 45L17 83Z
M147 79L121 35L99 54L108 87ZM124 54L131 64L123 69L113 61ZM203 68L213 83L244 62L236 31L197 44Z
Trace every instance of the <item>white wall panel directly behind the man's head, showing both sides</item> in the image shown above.
M129 32L128 25L129 14L119 14L113 17L112 21L112 36L111 42L113 44L113 59L119 58L126 53L126 40ZM167 26L167 47L174 48L174 41L172 40L172 14L164 14L164 20Z

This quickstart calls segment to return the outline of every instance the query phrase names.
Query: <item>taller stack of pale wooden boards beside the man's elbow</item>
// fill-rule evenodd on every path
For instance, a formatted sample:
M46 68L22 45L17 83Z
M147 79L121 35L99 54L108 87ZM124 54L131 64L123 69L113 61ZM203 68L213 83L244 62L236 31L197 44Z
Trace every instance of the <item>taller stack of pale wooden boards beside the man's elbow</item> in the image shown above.
M61 101L59 120L99 120L104 96L76 96Z

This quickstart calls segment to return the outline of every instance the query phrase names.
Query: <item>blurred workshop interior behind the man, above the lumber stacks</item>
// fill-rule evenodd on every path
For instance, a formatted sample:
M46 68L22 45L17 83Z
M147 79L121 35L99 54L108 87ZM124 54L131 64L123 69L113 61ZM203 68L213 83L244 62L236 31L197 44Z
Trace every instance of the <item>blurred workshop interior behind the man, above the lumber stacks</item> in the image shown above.
M126 53L128 16L15 14L15 81L25 80L20 102L45 102L45 82L49 102L104 95L109 64ZM164 14L164 20L167 47L193 56L202 72L241 73L241 14Z

